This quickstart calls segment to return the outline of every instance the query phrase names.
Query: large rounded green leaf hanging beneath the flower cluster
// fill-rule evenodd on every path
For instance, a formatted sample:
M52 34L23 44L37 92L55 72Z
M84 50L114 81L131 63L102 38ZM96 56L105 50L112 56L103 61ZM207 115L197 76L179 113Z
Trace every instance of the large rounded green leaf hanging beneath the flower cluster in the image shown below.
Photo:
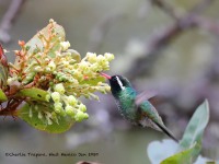
M21 119L23 119L24 121L26 121L28 125L31 125L32 127L34 127L38 130L44 130L44 131L47 131L50 133L61 133L61 132L69 130L70 127L74 122L69 117L59 117L58 124L55 120L53 120L53 124L48 125L48 121L44 115L43 115L43 118L39 119L38 110L31 109L31 108L32 107L30 104L25 104L23 107L21 107L18 110L18 116ZM41 109L42 112L48 110L48 108L46 108L43 105L38 105L38 109ZM32 112L30 112L30 110L32 110Z

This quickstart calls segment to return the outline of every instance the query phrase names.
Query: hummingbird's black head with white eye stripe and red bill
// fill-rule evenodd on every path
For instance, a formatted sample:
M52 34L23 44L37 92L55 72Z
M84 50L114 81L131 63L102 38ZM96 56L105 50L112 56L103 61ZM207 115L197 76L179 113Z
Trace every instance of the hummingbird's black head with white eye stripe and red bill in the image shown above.
M125 77L122 77L122 75L110 77L105 73L100 73L100 74L108 79L110 84L111 84L111 92L113 93L113 95L118 94L120 91L125 90L126 87L131 87L130 82Z

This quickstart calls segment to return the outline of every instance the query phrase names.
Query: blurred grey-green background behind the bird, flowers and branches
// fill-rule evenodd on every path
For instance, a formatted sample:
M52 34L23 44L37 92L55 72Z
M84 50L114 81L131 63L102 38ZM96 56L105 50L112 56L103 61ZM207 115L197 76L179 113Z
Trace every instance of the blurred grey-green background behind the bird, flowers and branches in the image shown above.
M199 0L170 1L181 13L186 13ZM9 0L0 0L0 21L7 12ZM199 15L217 23L219 1L212 2ZM18 40L28 40L54 19L66 30L71 48L82 56L87 51L96 54L113 52L111 74L134 77L131 82L138 90L159 89L171 95L171 101L159 105L159 112L166 126L181 138L196 105L204 95L210 102L210 124L204 139L204 155L219 159L219 85L212 79L207 86L205 75L219 55L218 34L203 28L189 28L174 38L170 45L159 51L159 58L150 68L150 73L141 75L127 74L137 58L147 55L145 46L153 35L174 24L155 4L147 0L26 0L20 14L15 17L9 34L11 40L3 47L13 62L12 50L19 48ZM99 37L103 32L103 38ZM96 42L97 40L97 42ZM165 45L165 43L164 43ZM207 73L208 74L208 73ZM218 73L219 74L219 73ZM205 92L205 93L203 93ZM96 161L104 164L143 164L150 163L147 145L150 141L166 138L151 129L131 127L117 113L111 95L101 95L100 102L87 102L90 119L77 124L61 134L38 131L25 122L10 117L0 119L0 163L77 163L78 161ZM200 96L200 97L201 97ZM171 97L171 96L170 96ZM197 98L198 97L198 98ZM217 144L216 144L217 143ZM97 156L71 157L9 157L5 153L99 153Z

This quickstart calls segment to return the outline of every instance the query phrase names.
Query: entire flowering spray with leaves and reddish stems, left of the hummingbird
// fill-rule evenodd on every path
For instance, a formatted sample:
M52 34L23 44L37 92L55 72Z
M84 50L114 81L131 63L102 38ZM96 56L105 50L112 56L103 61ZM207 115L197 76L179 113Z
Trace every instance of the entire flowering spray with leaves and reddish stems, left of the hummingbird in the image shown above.
M18 116L36 129L55 133L89 118L79 97L99 99L94 92L110 91L99 72L110 69L114 55L88 52L81 59L65 37L64 27L50 20L26 44L19 42L21 50L15 51L14 65L10 63L9 90L0 92L1 102L9 96L12 103L1 115Z

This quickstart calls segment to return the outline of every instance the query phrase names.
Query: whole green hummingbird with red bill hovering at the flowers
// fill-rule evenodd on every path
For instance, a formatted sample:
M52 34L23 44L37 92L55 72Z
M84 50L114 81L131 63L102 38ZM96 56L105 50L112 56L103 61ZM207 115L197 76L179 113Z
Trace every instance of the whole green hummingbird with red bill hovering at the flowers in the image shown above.
M163 131L174 141L178 140L165 127L155 107L148 101L146 93L140 94L131 86L131 83L123 75L107 75L100 72L110 81L111 92L116 101L119 113L131 124L140 127L150 127Z

